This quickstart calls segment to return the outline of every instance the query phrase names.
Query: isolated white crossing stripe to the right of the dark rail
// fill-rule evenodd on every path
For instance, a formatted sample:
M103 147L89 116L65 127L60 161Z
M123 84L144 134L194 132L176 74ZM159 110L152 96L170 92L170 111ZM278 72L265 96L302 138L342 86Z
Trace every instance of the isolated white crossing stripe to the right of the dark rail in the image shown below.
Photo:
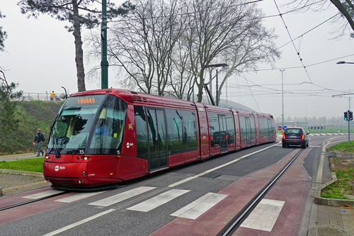
M262 199L260 203L249 214L241 227L248 227L255 230L272 231L285 201Z

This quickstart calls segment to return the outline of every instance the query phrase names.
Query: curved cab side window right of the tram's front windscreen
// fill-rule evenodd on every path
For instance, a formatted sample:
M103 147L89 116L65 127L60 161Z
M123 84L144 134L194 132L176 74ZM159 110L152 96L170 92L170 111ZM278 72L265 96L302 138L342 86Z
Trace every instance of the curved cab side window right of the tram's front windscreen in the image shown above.
M91 139L90 148L94 153L116 154L122 142L127 104L108 96L98 117Z

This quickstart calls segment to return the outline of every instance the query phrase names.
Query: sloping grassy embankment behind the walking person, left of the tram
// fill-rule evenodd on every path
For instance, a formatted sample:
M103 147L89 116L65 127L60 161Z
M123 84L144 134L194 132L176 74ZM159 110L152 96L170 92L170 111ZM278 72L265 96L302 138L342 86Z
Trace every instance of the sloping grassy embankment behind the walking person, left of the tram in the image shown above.
M33 139L36 130L45 133L45 145L52 125L62 102L50 101L19 101L15 118L20 120L18 128L11 130L8 137L0 140L1 154L17 154L33 152Z

